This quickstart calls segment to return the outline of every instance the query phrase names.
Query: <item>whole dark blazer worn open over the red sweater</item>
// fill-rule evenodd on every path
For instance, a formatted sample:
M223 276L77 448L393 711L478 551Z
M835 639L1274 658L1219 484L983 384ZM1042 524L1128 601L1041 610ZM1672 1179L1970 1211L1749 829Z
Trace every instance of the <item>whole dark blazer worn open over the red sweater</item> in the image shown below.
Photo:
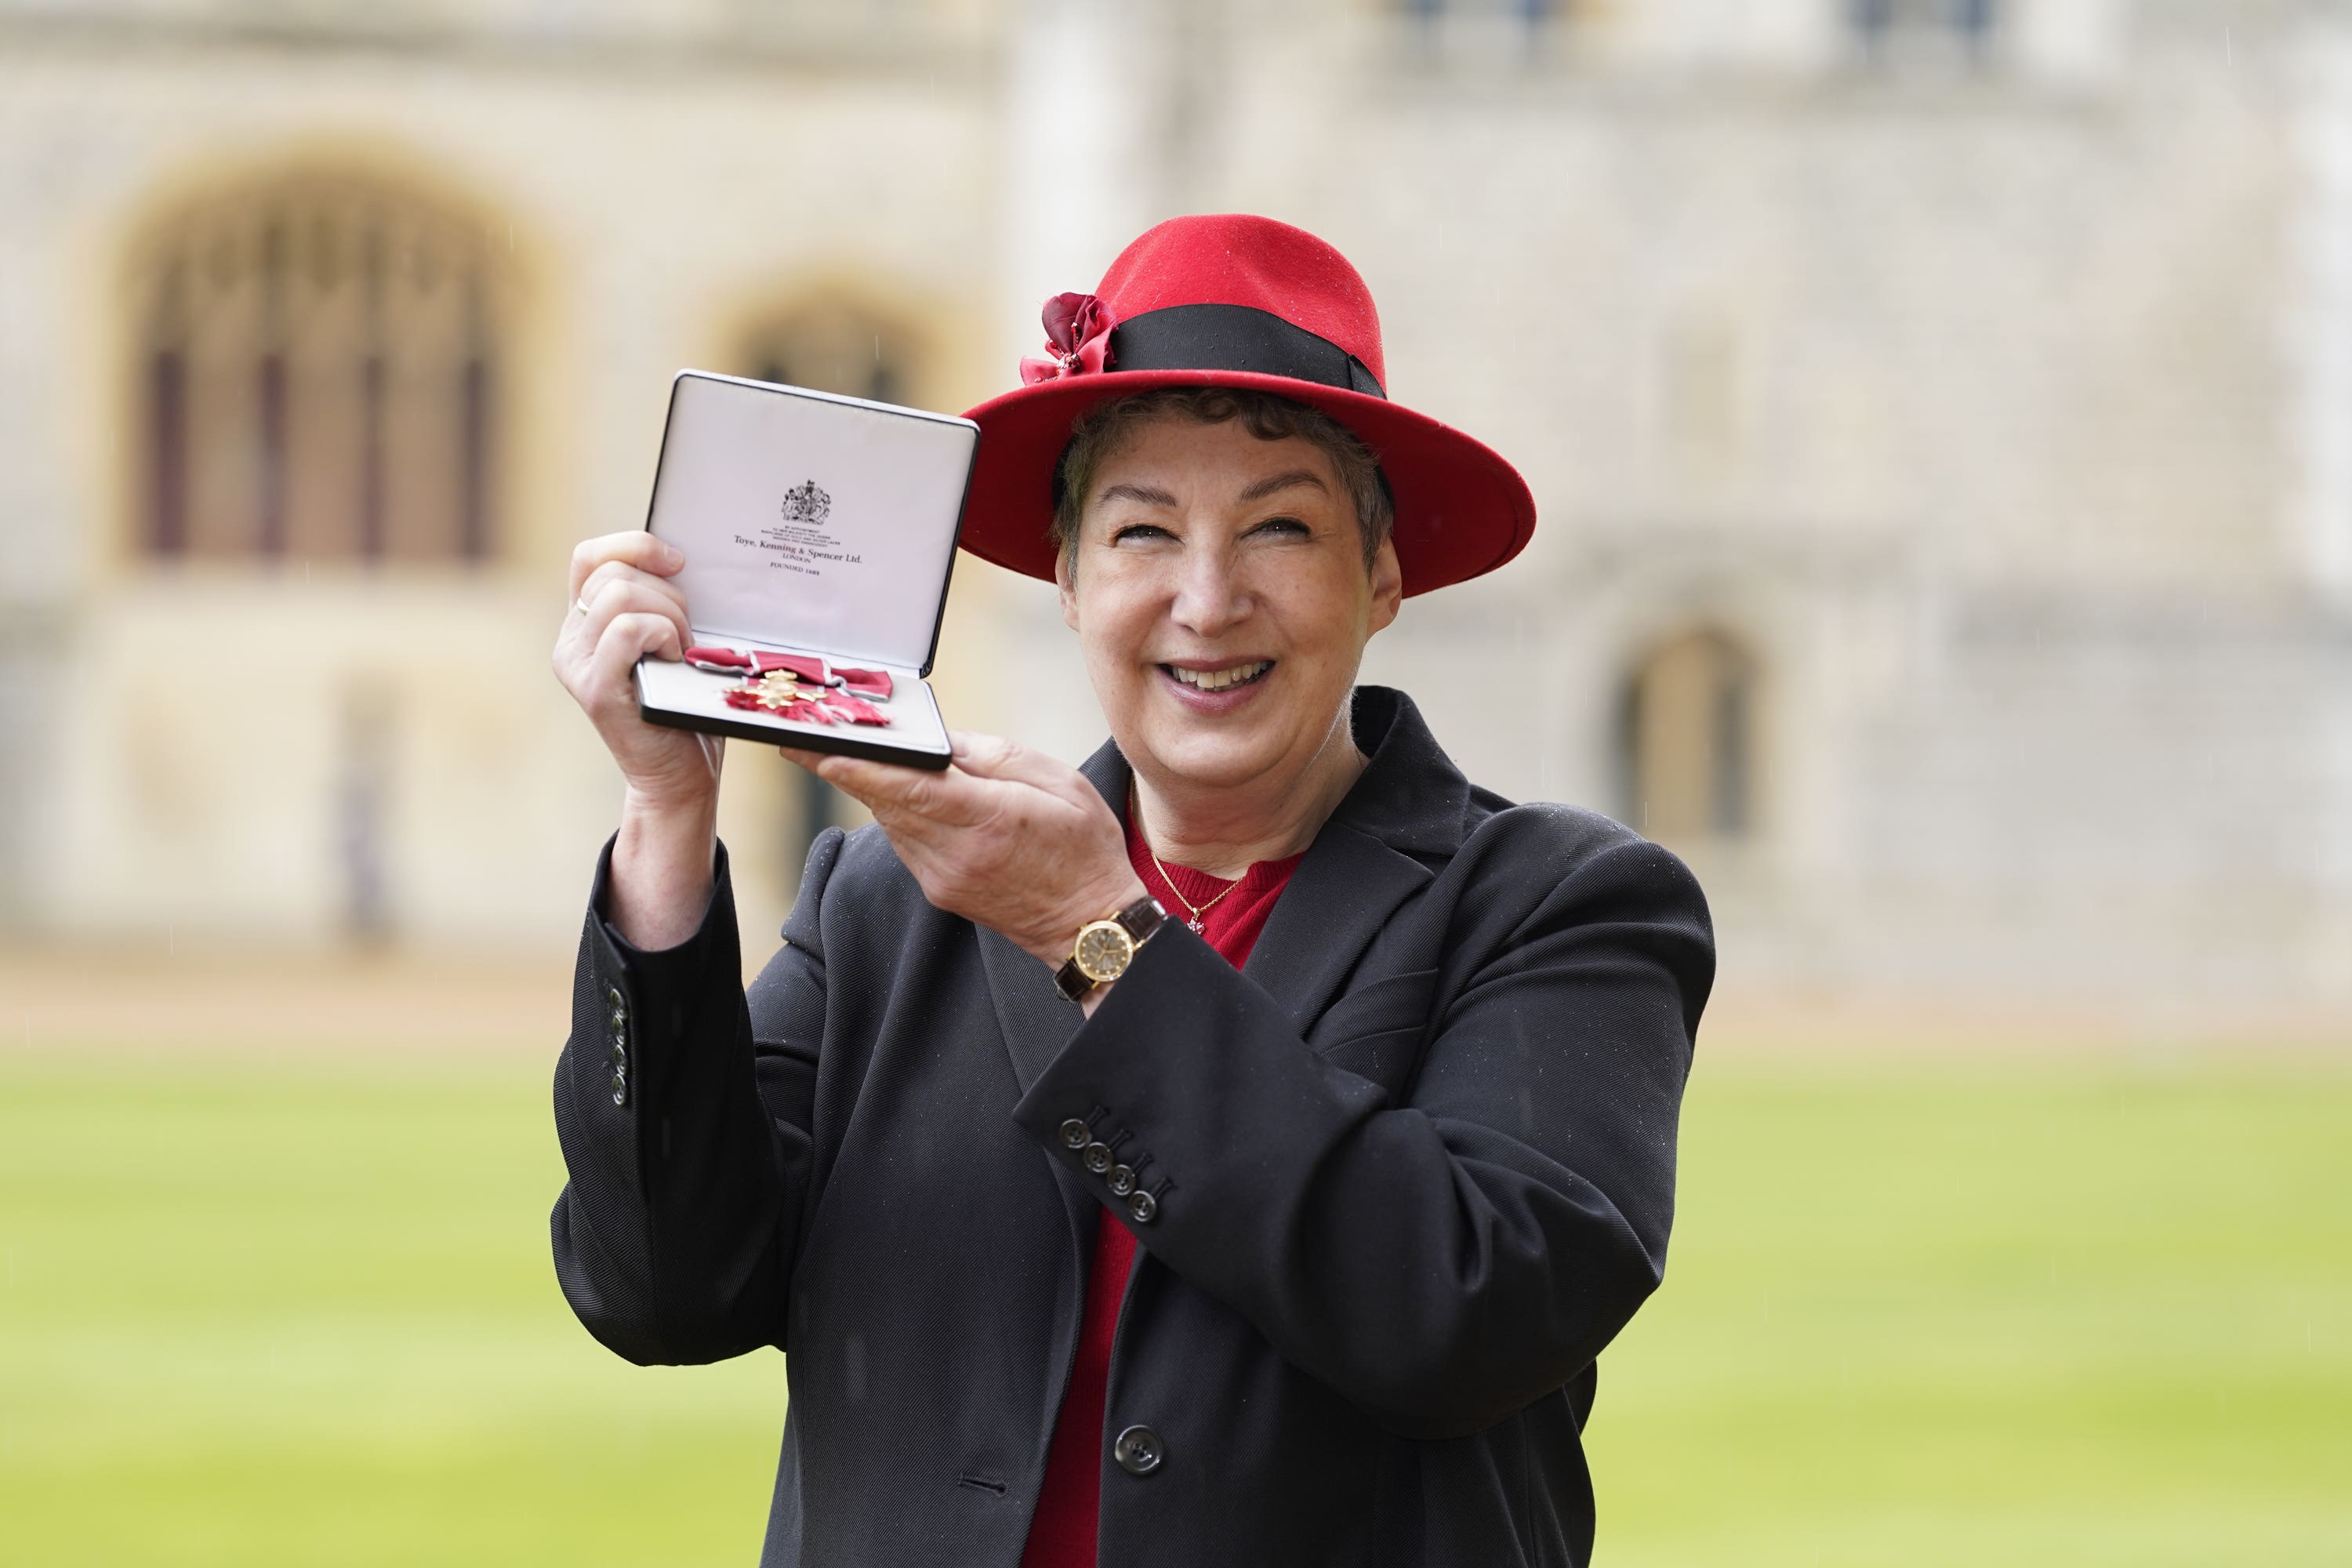
M668 952L597 870L555 1272L630 1361L788 1352L764 1563L1021 1561L1101 1204L1143 1248L1103 1563L1590 1559L1578 1432L1665 1265L1705 900L1472 788L1402 693L1355 733L1249 969L1171 922L1091 1020L873 827L809 851L748 999L724 851ZM1120 752L1084 771L1124 811Z

